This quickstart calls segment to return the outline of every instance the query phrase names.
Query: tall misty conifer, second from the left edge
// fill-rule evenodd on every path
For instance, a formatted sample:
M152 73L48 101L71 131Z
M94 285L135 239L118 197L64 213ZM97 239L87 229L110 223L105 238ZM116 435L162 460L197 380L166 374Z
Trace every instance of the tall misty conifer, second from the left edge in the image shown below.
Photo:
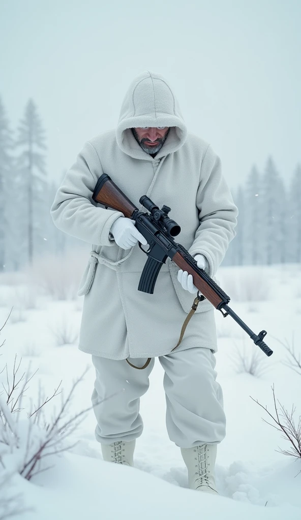
M29 99L24 118L18 126L16 146L21 148L17 158L16 202L19 206L20 240L27 257L23 261L32 264L33 256L44 253L46 229L45 204L47 178L45 157L40 150L45 150L45 135L35 103Z

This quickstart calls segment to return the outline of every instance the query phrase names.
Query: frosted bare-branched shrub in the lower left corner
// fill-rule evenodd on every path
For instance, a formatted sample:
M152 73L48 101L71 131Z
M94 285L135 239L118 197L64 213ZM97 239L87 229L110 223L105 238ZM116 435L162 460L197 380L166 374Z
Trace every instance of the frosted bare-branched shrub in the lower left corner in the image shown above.
M77 380L73 381L70 392L65 399L62 391L58 392L61 382L58 387L55 388L54 393L50 397L47 396L46 398L43 395L39 382L37 406L34 406L34 409L32 410L31 400L30 413L27 413L27 418L24 419L21 418L22 399L24 397L24 392L28 389L27 385L29 381L36 374L37 370L30 375L29 363L27 371L20 375L19 369L21 360L17 363L17 355L15 355L11 384L9 382L7 364L5 366L7 388L3 384L5 393L0 393L0 464L3 468L2 474L4 474L7 471L6 459L12 456L14 465L16 466L15 471L27 480L30 480L34 475L53 467L49 465L46 467L44 465L46 457L55 456L58 453L67 451L76 446L78 441L71 445L67 445L66 439L70 438L71 434L81 424L87 412L107 399L114 397L120 392L124 392L125 389L122 388L120 391L111 394L96 404L69 417L68 408L71 403L72 395L78 384L82 381L87 370L89 370L90 367L87 367L83 374ZM53 417L50 421L47 421L44 415L45 405L59 394L62 394L61 407L57 413L54 410ZM19 408L16 408L17 404L19 404ZM9 461L9 465L11 465L11 461ZM4 520L4 518L8 518L9 516L16 515L20 512L18 507L14 509L15 499L16 497L12 499L7 498L4 502L0 500L0 515L2 515L0 516L0 520ZM1 507L3 508L2 510Z

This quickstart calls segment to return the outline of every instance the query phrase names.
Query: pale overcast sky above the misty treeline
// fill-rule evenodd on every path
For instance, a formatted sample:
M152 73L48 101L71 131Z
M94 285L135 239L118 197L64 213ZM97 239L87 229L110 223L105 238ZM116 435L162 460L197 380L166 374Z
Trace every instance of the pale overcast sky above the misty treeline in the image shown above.
M0 96L15 129L30 97L59 179L84 142L115 128L133 77L163 74L189 131L230 187L271 154L301 161L300 0L0 0Z

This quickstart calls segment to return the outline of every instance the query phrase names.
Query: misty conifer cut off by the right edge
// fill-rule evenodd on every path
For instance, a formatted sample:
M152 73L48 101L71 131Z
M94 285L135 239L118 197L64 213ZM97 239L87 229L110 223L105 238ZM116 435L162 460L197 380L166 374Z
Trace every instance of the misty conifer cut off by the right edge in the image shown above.
M301 262L301 164L293 173L289 193L290 262Z

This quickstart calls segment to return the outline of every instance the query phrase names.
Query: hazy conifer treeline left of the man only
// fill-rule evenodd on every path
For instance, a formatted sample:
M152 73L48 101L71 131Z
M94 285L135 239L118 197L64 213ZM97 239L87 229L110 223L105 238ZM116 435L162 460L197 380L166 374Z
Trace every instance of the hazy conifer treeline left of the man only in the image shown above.
M78 242L59 231L49 213L58 186L47 177L45 140L32 99L13 132L0 97L0 271L19 270Z

